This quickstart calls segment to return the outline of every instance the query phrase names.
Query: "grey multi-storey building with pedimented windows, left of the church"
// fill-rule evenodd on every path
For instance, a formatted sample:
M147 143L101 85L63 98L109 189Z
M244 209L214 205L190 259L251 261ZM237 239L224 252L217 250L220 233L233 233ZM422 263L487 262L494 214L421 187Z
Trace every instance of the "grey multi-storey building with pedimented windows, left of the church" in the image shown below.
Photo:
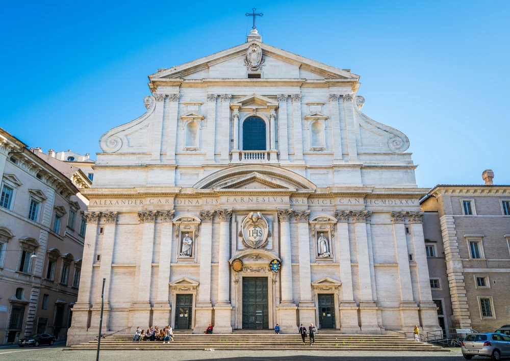
M65 339L77 300L87 199L79 168L0 128L0 344Z

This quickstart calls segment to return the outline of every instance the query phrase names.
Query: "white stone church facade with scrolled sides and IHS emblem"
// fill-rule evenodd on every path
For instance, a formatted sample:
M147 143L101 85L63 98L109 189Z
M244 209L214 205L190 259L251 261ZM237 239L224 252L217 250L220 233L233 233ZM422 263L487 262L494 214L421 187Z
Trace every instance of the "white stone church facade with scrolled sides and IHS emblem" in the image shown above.
M247 42L149 76L100 138L68 343L99 326L203 333L438 328L409 140L359 76Z

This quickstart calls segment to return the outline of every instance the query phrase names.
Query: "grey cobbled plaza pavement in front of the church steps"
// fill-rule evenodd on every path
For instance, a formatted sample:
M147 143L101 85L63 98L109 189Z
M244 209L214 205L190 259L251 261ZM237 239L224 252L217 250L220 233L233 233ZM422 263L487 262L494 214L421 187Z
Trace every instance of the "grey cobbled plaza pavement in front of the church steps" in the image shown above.
M437 352L370 352L370 351L104 351L101 360L129 361L150 359L193 361L193 360L225 360L225 361L460 361L464 358L460 349L448 353ZM62 351L62 347L44 348L5 348L0 349L0 360L37 360L37 361L80 361L95 360L95 351Z

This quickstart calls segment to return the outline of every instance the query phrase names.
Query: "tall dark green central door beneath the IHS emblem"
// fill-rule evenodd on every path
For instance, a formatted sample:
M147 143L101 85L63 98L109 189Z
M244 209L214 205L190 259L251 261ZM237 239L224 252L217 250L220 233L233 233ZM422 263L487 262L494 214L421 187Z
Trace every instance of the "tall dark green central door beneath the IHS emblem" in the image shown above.
M243 277L243 328L269 328L267 277Z

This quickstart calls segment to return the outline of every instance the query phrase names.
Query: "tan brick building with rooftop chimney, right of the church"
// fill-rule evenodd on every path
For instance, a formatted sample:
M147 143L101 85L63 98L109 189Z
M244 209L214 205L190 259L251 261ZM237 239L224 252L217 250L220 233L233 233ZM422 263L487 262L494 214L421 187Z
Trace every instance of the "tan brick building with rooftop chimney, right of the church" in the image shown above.
M445 329L510 323L510 186L437 185L421 200L432 298Z

